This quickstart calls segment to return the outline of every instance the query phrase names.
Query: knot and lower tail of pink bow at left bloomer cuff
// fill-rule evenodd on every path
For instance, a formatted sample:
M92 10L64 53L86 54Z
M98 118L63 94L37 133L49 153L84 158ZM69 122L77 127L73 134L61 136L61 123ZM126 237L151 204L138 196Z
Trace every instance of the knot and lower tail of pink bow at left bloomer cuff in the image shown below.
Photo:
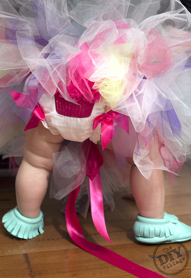
M45 119L44 111L42 110L42 107L38 103L36 104L36 107L32 113L33 116L28 122L28 124L25 126L24 131L37 127L39 122L44 121Z

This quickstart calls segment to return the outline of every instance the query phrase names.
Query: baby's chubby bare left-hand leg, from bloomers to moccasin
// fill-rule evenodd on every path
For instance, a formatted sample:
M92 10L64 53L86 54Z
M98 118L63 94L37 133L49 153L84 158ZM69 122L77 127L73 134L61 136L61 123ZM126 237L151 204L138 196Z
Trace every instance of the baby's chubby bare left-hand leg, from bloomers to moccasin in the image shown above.
M40 122L26 131L24 158L16 177L16 198L19 212L27 218L40 214L41 202L47 191L53 170L54 152L58 152L64 138L53 135Z

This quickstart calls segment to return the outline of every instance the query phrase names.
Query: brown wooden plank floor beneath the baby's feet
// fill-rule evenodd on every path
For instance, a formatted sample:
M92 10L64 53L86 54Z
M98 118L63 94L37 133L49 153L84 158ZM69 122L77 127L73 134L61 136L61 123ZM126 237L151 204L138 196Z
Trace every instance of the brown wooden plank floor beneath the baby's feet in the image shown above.
M191 172L187 165L177 177L178 186L170 186L166 179L165 211L178 216L179 220L191 226ZM16 205L14 178L1 177L0 218ZM180 274L165 275L158 271L153 262L156 245L136 242L132 226L137 209L132 200L115 196L116 208L111 213L105 211L107 230L115 246L111 246L96 232L90 212L85 220L79 220L87 240L98 243L126 257L127 259L153 270L164 277L191 277L191 241L183 243L190 260ZM61 201L43 201L44 234L31 240L20 240L9 235L0 224L0 277L1 278L130 278L135 277L113 265L105 263L76 246L70 239L64 215L61 214ZM180 269L181 269L181 264ZM154 277L154 276L153 276Z

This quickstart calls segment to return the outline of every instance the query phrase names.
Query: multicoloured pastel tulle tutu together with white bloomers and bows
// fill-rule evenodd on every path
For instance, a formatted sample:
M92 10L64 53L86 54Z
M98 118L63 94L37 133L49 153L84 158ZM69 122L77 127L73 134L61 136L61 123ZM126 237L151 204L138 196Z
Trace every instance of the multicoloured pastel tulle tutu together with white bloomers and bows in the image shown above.
M112 209L132 158L146 179L162 169L175 184L191 154L191 15L180 1L4 0L0 18L4 157L21 163L38 104L44 126L67 139L53 154L56 199L83 184L88 206L90 140Z

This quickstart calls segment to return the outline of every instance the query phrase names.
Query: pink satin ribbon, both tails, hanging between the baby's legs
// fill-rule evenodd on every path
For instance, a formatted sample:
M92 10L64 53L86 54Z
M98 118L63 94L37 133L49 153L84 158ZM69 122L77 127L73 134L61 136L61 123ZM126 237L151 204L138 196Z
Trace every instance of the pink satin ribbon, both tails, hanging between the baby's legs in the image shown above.
M91 142L90 152L87 159L87 176L90 178L90 200L91 200L91 210L92 218L96 229L98 232L110 243L110 238L107 233L104 220L103 212L103 196L101 190L101 180L99 175L99 169L103 163L100 152L95 144ZM68 201L66 204L66 225L72 240L82 249L93 254L101 260L104 260L107 263L110 263L130 274L135 275L136 277L145 278L145 277L156 277L164 278L160 274L155 273L147 268L144 268L136 263L127 260L126 258L120 256L119 254L107 249L98 244L87 241L84 238L81 225L79 223L75 201L78 196L80 186L70 192Z

